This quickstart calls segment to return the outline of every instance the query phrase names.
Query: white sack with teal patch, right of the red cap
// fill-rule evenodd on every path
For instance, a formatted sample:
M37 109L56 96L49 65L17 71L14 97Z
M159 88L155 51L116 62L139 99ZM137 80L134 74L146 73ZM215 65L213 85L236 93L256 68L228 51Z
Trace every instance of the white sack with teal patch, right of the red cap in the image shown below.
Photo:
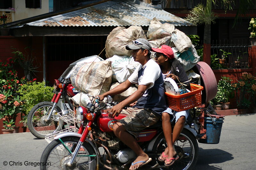
M183 53L180 53L176 47L172 47L172 51L174 53L174 57L182 64L185 71L192 69L200 60L200 56L197 55L196 49L193 45Z

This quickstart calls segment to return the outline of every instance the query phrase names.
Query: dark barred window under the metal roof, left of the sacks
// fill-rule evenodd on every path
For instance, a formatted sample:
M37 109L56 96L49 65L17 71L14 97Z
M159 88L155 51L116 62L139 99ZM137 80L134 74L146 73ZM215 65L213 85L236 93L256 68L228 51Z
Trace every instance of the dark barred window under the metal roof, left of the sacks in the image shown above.
M46 39L47 61L76 61L99 55L104 49L107 36L49 36ZM106 52L99 55L106 59Z

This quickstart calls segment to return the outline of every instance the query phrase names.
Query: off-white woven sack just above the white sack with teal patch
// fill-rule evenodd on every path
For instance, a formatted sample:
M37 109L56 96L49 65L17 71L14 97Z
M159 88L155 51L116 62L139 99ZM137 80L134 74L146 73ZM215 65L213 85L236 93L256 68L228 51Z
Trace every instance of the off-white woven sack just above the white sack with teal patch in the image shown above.
M185 33L181 32L178 29L175 29L172 32L171 42L173 42L175 47L178 48L180 53L187 51L188 48L192 46L192 42L190 38ZM169 46L173 47L172 45L169 45Z

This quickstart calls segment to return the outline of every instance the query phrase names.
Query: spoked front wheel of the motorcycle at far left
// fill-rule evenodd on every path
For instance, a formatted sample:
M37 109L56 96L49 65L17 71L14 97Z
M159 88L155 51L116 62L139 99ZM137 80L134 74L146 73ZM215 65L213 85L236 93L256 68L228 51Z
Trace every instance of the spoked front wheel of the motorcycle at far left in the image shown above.
M44 101L35 105L28 113L28 129L35 137L44 139L45 136L61 130L63 121L57 115L61 112L60 107L55 106L51 119L46 121L52 107L52 102Z

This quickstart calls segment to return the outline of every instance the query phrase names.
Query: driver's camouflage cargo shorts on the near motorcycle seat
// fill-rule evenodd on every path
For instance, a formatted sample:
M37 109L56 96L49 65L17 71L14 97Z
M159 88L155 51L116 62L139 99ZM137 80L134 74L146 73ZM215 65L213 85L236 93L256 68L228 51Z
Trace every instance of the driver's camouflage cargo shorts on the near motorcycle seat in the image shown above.
M118 122L134 137L137 137L143 129L155 124L159 120L159 118L148 109L129 107L121 113L127 114L127 116Z

